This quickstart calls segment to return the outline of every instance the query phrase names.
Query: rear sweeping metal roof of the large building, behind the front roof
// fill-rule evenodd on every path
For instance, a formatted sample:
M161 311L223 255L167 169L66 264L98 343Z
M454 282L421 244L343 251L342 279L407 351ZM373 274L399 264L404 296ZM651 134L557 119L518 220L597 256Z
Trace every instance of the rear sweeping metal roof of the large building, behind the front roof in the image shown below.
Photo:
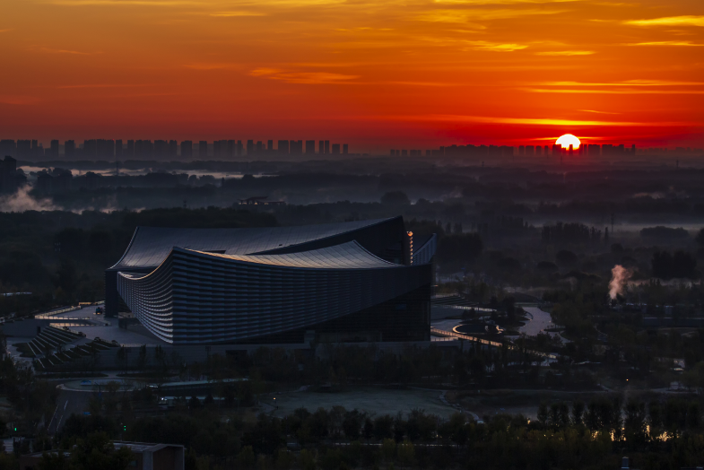
M391 220L394 220L394 218L256 229L169 229L137 227L135 235L129 247L127 247L125 254L117 264L113 265L110 269L129 270L130 268L156 267L169 256L172 248L217 252L209 253L213 255L253 255L276 248L291 247L313 240L334 237L335 235L356 231ZM361 249L363 250L363 248ZM364 251L366 252L366 250ZM374 257L369 253L368 255ZM258 257L261 256L265 255L258 255ZM269 256L274 257L274 255ZM277 257L279 257L277 263L293 262L292 258L291 261L284 261L282 255L278 255ZM356 255L352 257L356 257ZM386 263L386 261L377 257L374 258L382 263ZM252 260L251 262L256 261Z

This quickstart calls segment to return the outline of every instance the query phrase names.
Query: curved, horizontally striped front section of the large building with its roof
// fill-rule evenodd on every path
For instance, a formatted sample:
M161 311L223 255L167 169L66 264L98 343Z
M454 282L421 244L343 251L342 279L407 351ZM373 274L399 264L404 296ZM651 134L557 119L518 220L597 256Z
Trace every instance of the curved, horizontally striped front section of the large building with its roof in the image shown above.
M169 344L227 344L314 329L430 282L430 265L395 264L351 241L282 255L174 247L149 274L119 272L117 291Z

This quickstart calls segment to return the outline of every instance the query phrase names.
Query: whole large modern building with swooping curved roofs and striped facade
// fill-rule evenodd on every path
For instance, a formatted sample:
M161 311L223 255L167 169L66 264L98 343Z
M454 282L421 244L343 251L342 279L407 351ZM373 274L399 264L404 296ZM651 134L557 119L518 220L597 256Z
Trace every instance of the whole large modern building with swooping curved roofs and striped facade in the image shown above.
M106 314L169 344L430 339L435 236L401 217L298 227L139 227L106 271Z

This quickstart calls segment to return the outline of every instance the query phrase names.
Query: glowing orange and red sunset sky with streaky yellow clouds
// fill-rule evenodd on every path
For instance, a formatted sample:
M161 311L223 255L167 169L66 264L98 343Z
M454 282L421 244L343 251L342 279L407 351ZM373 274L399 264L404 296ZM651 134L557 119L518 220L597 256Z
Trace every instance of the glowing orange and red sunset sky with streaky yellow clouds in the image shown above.
M704 147L701 0L5 0L0 138Z

